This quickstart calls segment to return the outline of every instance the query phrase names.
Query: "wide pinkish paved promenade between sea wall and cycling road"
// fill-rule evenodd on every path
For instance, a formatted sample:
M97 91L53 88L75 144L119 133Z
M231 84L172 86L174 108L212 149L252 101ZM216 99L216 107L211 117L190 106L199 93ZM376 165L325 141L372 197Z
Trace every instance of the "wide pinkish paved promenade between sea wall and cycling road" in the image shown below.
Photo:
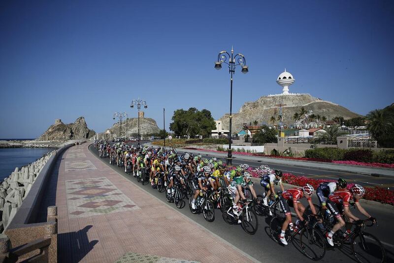
M55 171L59 262L252 262L120 176L88 146L66 150Z

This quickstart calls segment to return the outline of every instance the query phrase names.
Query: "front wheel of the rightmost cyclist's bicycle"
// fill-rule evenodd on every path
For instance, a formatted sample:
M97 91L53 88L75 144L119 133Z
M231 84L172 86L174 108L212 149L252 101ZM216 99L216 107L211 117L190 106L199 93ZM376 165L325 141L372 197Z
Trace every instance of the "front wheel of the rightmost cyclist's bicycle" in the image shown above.
M352 251L360 263L385 262L385 249L374 235L366 232L356 234L351 242Z

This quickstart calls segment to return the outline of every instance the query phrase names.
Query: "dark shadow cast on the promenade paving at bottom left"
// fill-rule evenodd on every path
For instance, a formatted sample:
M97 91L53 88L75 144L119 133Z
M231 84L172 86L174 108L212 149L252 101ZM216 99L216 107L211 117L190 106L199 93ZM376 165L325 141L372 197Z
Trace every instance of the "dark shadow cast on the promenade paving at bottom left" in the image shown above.
M99 243L89 241L88 231L93 225L87 225L77 232L58 234L58 262L80 262Z

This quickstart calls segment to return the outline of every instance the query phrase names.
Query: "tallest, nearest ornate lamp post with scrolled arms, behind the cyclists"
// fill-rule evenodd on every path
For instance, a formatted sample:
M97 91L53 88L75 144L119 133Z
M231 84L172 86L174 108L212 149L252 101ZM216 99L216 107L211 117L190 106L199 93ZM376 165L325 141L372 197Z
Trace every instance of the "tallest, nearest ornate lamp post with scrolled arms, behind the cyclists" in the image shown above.
M228 62L227 62L228 61ZM234 56L234 50L231 47L231 55L227 51L220 51L218 54L218 61L215 62L215 69L220 70L222 63L225 63L229 67L230 73L230 134L229 134L229 153L227 155L227 165L232 166L232 153L231 153L231 118L232 118L232 75L235 74L235 67L241 66L241 72L248 73L248 66L246 66L245 57L238 53Z

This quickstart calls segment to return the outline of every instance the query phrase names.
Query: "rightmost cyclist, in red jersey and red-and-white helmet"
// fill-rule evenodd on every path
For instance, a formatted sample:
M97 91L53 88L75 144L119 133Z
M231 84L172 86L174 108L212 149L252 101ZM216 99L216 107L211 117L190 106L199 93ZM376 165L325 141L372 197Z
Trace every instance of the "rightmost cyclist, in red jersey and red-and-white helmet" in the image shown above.
M346 233L344 236L346 237L351 232L352 224L346 224L336 205L339 205L341 208L341 212L345 215L345 217L349 220L350 223L358 222L360 219L352 214L349 210L349 202L353 199L355 206L357 209L366 216L370 221L376 223L376 219L371 217L365 209L361 206L359 200L365 194L365 189L360 185L354 185L350 190L348 189L339 189L336 190L332 195L330 195L327 199L327 208L337 219L337 223L331 228L331 230L326 234L328 244L330 246L334 246L332 241L332 235L342 226L346 225Z

